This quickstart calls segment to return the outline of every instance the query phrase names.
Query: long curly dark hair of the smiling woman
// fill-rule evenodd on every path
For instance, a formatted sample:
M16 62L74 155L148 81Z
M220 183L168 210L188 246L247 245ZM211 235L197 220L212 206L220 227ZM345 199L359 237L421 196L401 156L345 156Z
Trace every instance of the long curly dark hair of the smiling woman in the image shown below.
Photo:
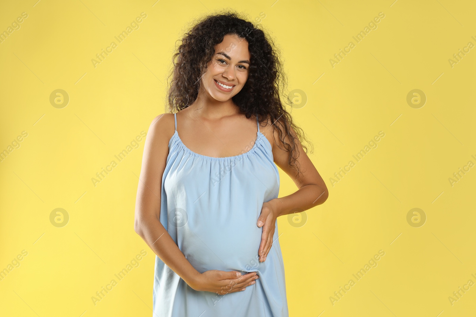
M194 23L194 22L192 22ZM225 35L237 35L248 41L250 63L248 80L241 91L232 97L247 118L258 116L258 121L270 120L278 129L279 139L284 151L289 152L288 165L296 170L299 140L310 144L301 128L292 122L290 113L280 99L282 90L287 89L287 79L282 70L277 50L270 37L248 20L232 10L207 15L195 22L185 33L178 50L172 57L173 67L168 82L167 103L174 113L193 104L198 96L200 79L207 71L207 64L215 55L215 46L223 41ZM288 93L283 94L288 105L292 105ZM295 135L292 134L293 128ZM289 136L290 143L285 141ZM307 147L302 145L307 153ZM312 144L311 144L312 149ZM312 152L311 152L312 153Z

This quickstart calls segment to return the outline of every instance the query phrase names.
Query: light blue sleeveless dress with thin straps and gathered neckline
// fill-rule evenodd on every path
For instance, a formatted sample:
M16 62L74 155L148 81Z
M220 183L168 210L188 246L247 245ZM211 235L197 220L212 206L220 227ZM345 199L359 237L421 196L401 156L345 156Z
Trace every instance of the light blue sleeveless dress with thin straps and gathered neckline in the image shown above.
M197 154L177 132L169 141L162 177L160 222L192 266L258 272L244 291L218 295L196 291L156 256L154 317L287 317L278 221L266 261L258 261L263 202L278 197L279 173L271 144L259 132L248 151L228 157ZM160 240L157 242L160 243Z

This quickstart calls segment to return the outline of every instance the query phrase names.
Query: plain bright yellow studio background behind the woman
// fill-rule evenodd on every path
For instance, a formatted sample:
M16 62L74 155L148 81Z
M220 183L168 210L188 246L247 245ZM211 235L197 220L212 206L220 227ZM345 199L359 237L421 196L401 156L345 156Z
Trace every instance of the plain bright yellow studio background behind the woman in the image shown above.
M476 282L476 168L448 181L476 163L476 48L448 62L476 44L475 3L358 2L225 2L249 19L266 15L260 24L281 50L288 89L307 96L292 115L330 192L304 225L278 218L290 316L475 315L476 286L448 300ZM0 163L0 269L28 255L0 281L1 316L152 315L155 255L133 229L144 140L96 186L91 178L164 113L175 41L218 4L2 1L0 31L22 12L28 18L0 44L0 150L28 136ZM139 29L93 67L141 12ZM385 18L357 43L352 36L379 12ZM356 46L332 67L349 41ZM56 89L69 95L64 108L50 104ZM418 109L407 104L413 89L426 95ZM379 131L377 148L332 186L329 178ZM297 188L280 175L282 197ZM50 222L56 208L69 214L62 228ZM425 212L423 226L407 222L412 208ZM140 250L139 267L93 305ZM378 250L377 267L353 278ZM356 284L333 305L349 279Z

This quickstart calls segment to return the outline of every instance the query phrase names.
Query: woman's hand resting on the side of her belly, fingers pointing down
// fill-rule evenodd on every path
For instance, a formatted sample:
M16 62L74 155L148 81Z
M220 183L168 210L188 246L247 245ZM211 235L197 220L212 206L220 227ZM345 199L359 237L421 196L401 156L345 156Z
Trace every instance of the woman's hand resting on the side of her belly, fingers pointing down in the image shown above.
M273 235L275 231L276 218L278 218L278 212L274 205L269 202L264 202L261 207L261 214L258 217L258 227L263 227L263 233L261 234L261 243L259 244L258 256L259 261L264 262L268 256L271 245L273 244Z

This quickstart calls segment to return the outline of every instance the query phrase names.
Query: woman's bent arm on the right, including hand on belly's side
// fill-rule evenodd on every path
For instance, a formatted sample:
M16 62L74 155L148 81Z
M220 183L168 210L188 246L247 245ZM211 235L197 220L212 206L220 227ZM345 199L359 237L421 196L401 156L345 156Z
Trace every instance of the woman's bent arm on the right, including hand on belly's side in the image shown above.
M275 231L276 218L287 215L293 211L305 211L312 207L322 204L327 200L329 192L326 183L321 175L317 172L316 167L311 162L301 145L299 139L297 141L298 157L297 162L300 172L297 178L295 169L288 166L288 152L282 150L284 147L279 140L278 132L273 125L266 131L273 131L275 142L270 142L273 147L273 157L276 165L279 166L294 181L298 190L288 196L279 197L263 203L261 214L258 218L258 227L263 227L261 234L261 243L258 249L259 261L264 262L269 250L273 244L273 235ZM291 128L292 130L292 128ZM294 135L294 130L291 131ZM285 140L290 143L289 137ZM279 146L276 142L280 142Z

